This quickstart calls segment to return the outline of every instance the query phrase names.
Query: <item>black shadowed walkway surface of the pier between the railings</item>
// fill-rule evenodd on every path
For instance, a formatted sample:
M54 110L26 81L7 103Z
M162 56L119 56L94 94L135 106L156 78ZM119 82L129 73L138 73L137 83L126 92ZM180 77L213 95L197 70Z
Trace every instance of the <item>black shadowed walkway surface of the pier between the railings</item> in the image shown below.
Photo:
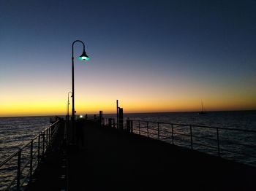
M65 147L59 132L27 190L256 190L248 165L94 122L78 135L79 147Z

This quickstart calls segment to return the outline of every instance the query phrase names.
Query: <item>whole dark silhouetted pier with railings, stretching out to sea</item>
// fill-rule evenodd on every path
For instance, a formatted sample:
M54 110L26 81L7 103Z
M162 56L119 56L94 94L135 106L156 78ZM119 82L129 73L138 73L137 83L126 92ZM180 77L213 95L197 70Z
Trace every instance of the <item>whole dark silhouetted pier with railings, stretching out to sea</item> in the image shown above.
M13 178L2 176L0 190L256 189L255 166L221 157L219 133L214 156L195 150L198 135L192 136L192 125L188 135L187 127L182 134L188 137L186 148L176 145L181 139L174 124L166 142L159 122L118 122L99 115L77 119L72 129L56 120L1 162L1 170L12 169Z

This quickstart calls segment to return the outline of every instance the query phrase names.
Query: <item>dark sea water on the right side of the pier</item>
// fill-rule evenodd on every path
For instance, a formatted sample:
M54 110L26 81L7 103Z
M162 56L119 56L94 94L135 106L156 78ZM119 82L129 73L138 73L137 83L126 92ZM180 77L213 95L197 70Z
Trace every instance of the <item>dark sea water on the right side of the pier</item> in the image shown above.
M107 114L105 117L116 117L116 115ZM173 125L174 144L189 149L191 148L189 125L194 125L192 126L193 149L256 166L256 131L238 130L256 130L256 111L207 112L206 114L197 112L124 114L124 120L127 117L130 120L151 121L148 123L140 121L140 129L143 130L141 127L144 127L144 132L138 132L139 122L134 122L133 126L135 133L147 136L145 128L148 125L153 129L149 130L149 134L155 139L158 139L156 122L184 124ZM215 128L200 128L197 125ZM219 141L217 128L227 128L227 130L218 130ZM171 125L160 123L159 130L162 130L161 134L166 136L160 139L172 143ZM163 133L165 130L169 133Z

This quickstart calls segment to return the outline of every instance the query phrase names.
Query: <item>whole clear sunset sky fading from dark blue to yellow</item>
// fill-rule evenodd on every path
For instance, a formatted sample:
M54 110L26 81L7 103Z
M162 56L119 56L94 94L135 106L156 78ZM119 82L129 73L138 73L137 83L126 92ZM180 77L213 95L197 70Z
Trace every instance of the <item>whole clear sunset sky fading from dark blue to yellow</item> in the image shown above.
M78 39L78 114L256 109L254 0L1 0L0 117L66 114Z

